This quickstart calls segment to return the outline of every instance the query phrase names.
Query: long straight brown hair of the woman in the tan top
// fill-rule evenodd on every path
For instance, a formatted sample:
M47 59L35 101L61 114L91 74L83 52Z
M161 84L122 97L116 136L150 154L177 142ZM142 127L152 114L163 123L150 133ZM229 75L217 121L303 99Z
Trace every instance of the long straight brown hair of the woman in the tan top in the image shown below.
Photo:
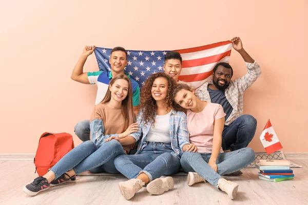
M106 92L106 95L104 99L101 101L101 103L107 103L111 99L111 91L110 86L112 86L115 82L115 80L118 79L124 79L128 83L128 93L125 99L122 100L122 114L124 116L124 119L128 119L128 121L125 122L124 131L128 128L129 125L133 124L135 122L135 116L132 109L132 89L131 89L131 82L130 79L127 77L127 75L117 75L113 77L108 85L108 90Z

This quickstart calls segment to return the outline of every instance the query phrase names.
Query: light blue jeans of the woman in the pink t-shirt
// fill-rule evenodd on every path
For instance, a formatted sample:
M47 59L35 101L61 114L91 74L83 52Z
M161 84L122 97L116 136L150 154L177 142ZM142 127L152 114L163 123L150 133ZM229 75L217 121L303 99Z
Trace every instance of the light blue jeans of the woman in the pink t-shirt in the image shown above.
M216 164L217 173L208 165L211 153L184 152L181 166L184 172L197 172L211 185L217 187L221 175L238 171L255 160L255 152L251 148L242 148L233 152L219 153Z

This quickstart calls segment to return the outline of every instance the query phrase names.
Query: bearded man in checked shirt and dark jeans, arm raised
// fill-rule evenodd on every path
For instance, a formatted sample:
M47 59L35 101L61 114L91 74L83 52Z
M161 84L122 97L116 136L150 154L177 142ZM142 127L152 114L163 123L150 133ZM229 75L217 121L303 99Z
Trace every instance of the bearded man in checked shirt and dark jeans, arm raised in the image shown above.
M232 40L233 48L246 62L247 73L239 79L231 81L233 69L227 63L218 63L213 70L213 81L208 81L196 90L196 95L211 103L223 107L225 124L222 133L223 150L235 151L247 147L253 139L257 120L252 115L243 115L243 93L260 76L261 70L257 62L243 49L239 37Z

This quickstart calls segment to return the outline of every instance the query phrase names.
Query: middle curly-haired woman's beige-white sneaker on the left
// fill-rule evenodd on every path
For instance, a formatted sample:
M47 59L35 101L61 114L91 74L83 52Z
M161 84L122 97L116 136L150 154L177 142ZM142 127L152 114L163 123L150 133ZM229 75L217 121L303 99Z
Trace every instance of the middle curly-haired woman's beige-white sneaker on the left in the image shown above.
M126 200L131 199L139 190L141 190L144 182L140 179L129 179L128 181L119 182L121 194Z

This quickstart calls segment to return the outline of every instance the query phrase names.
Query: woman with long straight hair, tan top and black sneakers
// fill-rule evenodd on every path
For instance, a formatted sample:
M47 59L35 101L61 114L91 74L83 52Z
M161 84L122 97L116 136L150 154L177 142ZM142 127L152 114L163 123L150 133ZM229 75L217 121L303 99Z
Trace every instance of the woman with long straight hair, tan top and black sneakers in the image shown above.
M23 191L34 196L87 170L92 173L119 173L113 160L118 155L126 154L129 148L122 147L117 140L109 141L108 138L125 138L139 131L134 120L130 80L126 75L115 76L109 83L106 96L95 106L91 115L91 140L68 152L48 173L35 178Z

